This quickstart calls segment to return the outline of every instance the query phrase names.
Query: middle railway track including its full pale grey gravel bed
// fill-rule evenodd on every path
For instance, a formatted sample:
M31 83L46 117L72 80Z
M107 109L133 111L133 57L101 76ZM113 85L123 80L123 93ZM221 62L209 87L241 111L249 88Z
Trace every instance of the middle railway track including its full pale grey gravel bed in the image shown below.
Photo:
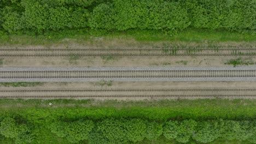
M255 79L256 68L0 68L0 82L41 80Z

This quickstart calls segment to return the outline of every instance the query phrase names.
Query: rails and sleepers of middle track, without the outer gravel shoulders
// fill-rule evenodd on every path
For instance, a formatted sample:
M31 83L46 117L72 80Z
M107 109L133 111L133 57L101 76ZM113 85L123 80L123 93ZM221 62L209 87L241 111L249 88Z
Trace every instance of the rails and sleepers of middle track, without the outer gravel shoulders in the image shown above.
M0 79L256 77L256 70L35 70L0 71Z

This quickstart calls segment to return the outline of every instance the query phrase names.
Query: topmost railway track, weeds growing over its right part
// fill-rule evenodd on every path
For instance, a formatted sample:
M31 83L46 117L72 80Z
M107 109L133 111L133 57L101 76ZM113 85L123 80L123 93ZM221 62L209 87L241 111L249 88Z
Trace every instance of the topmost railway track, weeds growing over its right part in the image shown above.
M255 56L256 49L0 49L0 57Z

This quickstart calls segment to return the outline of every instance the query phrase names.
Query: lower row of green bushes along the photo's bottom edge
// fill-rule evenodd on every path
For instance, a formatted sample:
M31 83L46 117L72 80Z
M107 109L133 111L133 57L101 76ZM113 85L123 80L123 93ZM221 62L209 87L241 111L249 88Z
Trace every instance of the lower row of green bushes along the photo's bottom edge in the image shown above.
M69 143L84 140L89 143L130 143L143 139L156 140L162 135L168 140L176 140L180 143L190 141L207 143L217 139L247 140L256 143L256 121L187 119L158 122L138 118L110 118L102 121L84 119L71 122L57 121L49 124L48 127L49 133L63 137ZM35 131L37 130L32 124L10 117L4 118L0 126L0 134L15 139L16 143L36 142Z

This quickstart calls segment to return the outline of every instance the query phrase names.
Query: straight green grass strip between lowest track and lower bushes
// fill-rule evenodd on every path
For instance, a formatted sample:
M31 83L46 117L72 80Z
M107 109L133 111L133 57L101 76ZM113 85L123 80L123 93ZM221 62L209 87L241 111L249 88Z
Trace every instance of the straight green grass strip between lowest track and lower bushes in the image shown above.
M49 106L49 103L53 105ZM37 107L37 109L34 109ZM0 115L17 113L27 118L106 117L166 119L255 119L256 100L199 99L160 101L21 100L0 99ZM2 113L4 112L4 113ZM79 115L77 115L79 113Z

